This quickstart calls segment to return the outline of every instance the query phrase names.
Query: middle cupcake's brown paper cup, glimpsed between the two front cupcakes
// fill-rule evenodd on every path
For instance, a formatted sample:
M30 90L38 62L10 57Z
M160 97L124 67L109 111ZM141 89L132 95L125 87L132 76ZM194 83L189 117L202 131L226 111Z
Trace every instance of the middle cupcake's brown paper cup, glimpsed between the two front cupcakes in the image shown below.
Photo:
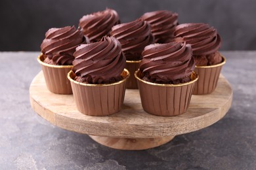
M138 61L126 60L125 68L131 74L130 78L126 82L126 88L128 88L128 89L138 89L137 80L136 80L134 74L135 74L135 71L137 71L137 69L139 69L139 67L140 67L140 61L141 60L138 60Z

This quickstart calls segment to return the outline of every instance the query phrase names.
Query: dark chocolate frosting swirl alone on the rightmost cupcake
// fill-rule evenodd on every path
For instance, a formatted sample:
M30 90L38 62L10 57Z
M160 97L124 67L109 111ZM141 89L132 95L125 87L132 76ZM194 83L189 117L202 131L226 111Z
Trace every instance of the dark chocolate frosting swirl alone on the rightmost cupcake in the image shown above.
M208 55L217 52L221 46L221 37L217 29L209 24L190 23L175 27L175 41L191 44L193 55Z

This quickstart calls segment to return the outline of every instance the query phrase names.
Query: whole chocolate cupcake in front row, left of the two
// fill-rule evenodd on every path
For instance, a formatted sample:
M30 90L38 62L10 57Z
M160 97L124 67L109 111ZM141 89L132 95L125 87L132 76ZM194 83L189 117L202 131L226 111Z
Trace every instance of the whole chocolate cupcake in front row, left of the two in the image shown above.
M74 56L68 78L77 109L90 116L118 112L129 78L120 42L114 37L103 37L99 42L81 44Z

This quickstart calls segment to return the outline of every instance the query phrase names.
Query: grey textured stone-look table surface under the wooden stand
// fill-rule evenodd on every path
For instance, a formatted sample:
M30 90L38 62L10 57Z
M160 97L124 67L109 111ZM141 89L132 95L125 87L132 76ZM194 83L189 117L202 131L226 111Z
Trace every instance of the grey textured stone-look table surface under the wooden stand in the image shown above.
M121 151L54 127L30 107L39 52L0 52L0 169L255 169L256 51L222 52L232 107L205 129L158 148Z

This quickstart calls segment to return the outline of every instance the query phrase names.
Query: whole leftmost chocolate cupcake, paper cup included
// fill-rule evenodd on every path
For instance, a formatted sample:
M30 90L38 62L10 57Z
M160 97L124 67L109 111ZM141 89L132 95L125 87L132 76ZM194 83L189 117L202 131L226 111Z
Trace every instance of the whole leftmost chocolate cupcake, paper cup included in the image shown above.
M74 26L51 28L45 33L45 39L41 44L42 54L37 60L42 65L49 91L58 94L72 93L66 75L73 67L75 48L87 42L87 37Z

